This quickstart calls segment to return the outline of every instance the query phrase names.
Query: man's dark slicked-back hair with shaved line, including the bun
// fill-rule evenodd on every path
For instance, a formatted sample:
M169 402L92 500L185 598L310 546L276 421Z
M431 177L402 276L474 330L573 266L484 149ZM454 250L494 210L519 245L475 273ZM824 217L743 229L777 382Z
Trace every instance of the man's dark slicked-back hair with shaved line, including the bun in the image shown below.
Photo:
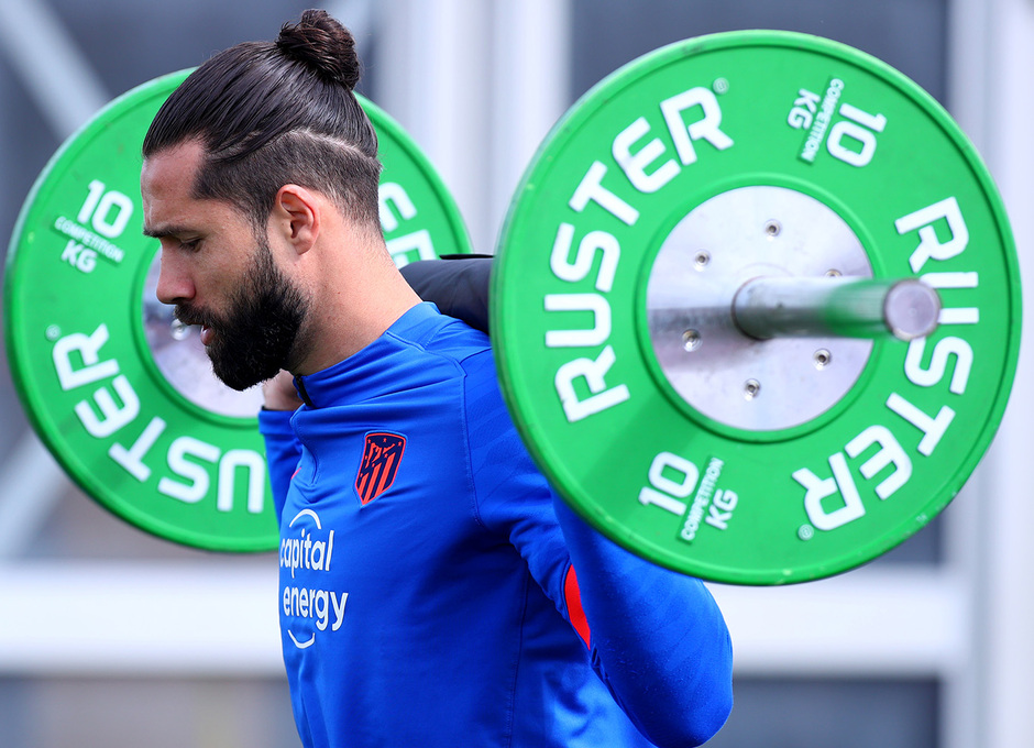
M377 135L353 94L359 79L352 34L307 10L275 42L238 44L191 73L155 116L143 156L199 141L195 197L237 206L263 238L287 184L380 232Z

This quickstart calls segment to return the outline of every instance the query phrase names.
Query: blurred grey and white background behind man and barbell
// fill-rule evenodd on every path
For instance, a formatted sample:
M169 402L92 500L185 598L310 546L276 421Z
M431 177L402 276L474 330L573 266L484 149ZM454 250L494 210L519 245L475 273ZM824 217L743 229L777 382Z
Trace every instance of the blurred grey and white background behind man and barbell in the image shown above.
M272 38L310 4L0 0L0 233L10 235L47 158L108 100L237 42ZM480 251L492 251L538 143L594 82L668 42L769 28L859 47L944 103L987 161L1021 265L1030 261L1032 0L324 7L356 36L361 90L428 153ZM733 632L736 706L710 746L1030 746L1030 375L1024 355L981 468L893 552L790 588L713 585ZM40 446L0 366L2 748L295 748L276 576L275 554L180 548L99 508Z

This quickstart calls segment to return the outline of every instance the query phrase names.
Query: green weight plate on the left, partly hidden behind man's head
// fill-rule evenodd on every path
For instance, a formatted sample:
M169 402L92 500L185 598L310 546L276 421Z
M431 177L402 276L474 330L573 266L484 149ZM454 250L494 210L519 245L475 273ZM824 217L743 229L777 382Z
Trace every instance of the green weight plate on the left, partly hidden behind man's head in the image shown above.
M156 301L158 242L142 234L140 144L188 73L111 102L36 180L4 277L8 355L33 427L87 494L176 542L272 550L261 392L219 383L196 331ZM380 140L381 218L396 264L471 252L428 160L362 103Z

